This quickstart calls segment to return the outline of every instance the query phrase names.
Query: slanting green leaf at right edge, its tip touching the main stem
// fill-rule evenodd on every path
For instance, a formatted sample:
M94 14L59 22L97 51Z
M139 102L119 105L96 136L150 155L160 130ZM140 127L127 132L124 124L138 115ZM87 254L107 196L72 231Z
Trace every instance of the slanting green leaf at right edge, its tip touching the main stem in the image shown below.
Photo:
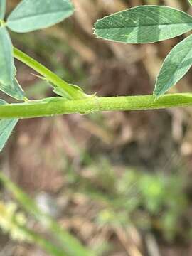
M178 43L167 55L156 80L154 95L163 95L183 78L192 65L192 35Z

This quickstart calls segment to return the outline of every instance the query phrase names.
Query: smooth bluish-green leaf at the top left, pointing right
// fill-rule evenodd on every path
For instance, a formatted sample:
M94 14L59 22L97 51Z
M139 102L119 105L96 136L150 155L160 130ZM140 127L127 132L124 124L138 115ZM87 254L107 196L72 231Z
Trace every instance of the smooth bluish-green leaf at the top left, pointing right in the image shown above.
M35 31L63 21L73 11L69 0L23 0L9 15L7 26L18 33Z

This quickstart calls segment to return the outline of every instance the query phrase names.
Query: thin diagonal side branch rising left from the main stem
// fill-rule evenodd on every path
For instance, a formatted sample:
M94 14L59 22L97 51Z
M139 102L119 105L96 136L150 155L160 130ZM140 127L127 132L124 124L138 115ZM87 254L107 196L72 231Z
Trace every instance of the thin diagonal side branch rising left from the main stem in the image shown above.
M30 56L23 53L21 50L18 50L14 47L14 57L17 60L20 60L22 63L28 65L28 67L35 70L37 73L41 74L45 80L53 83L55 87L62 88L69 98L78 100L85 97L85 93L80 90L74 90L74 88L65 82L63 79L59 78L58 75L48 70L44 65L38 63L38 61L34 60Z

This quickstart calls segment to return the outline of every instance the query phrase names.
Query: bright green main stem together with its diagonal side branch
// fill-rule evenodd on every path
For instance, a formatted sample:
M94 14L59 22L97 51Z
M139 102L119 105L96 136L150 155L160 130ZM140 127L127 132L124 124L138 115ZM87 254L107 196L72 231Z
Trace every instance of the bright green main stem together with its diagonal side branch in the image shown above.
M0 106L0 119L3 118L33 118L51 117L57 114L89 114L100 111L117 110L155 110L167 107L192 106L192 93L168 94L159 98L153 95L121 96L121 97L97 97L85 95L48 70L38 61L14 48L14 57L36 70L46 80L56 87L62 87L72 100L55 97L53 100L29 101L25 103Z

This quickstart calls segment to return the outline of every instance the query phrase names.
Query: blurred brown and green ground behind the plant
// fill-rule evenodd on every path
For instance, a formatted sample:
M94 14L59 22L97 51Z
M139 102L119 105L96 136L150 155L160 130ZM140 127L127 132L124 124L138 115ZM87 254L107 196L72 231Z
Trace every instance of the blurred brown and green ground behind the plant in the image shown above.
M8 1L8 11L18 2ZM93 23L141 4L192 14L188 2L73 3L75 14L57 26L11 33L14 46L87 93L151 94L162 61L183 36L123 45L96 39ZM18 62L16 68L30 99L53 96L33 70ZM189 72L171 92L190 92L191 82ZM70 253L45 252L43 241L58 246L54 225L81 242L87 255L192 255L191 116L188 107L21 120L0 155L1 173L9 177L1 177L0 255L84 256L73 243Z

